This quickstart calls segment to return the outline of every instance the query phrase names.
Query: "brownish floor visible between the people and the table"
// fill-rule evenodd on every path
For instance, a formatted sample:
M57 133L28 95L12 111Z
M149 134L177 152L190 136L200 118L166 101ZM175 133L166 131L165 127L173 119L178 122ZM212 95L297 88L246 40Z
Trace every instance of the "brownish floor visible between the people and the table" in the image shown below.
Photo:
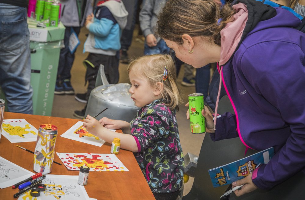
M137 29L135 29L135 34L133 37L132 44L129 48L128 54L132 59L137 58L140 55L143 55L144 44L143 41L139 39L137 36ZM78 49L75 53L75 60L71 70L71 84L75 90L75 93L85 93L85 67L82 65L82 61L88 55L87 53L82 53L83 45L86 39L85 34L88 33L85 28L83 28L79 34L79 39L81 44L78 46ZM120 71L120 79L119 83L129 83L129 79L127 77L127 64L120 63L119 71ZM186 111L187 107L184 106L188 101L188 94L195 92L195 87L185 87L181 85L181 81L183 78L184 69L181 67L179 76L178 76L178 87L181 89L184 103L180 105L179 111L176 113L179 134L180 134L180 142L183 149L183 154L185 155L187 152L190 152L194 155L199 155L200 148L202 145L202 141L204 138L204 134L191 134L190 132L190 122L186 119ZM76 101L74 95L54 95L52 116L56 117L65 117L65 118L75 118L73 116L74 110L81 110L85 106L84 103L80 103ZM186 195L192 187L194 178L190 177L189 181L184 184L183 195Z

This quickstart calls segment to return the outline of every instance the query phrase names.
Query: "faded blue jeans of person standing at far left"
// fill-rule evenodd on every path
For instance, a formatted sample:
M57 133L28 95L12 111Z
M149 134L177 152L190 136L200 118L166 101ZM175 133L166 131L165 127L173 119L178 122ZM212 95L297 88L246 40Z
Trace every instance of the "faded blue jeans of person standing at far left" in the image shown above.
M0 3L0 84L13 113L33 114L27 9Z

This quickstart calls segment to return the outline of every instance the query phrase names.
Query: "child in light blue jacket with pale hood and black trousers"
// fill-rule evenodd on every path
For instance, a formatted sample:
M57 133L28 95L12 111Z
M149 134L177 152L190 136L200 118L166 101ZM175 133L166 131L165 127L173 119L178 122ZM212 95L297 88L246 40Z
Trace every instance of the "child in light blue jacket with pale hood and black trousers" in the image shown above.
M110 84L119 80L118 50L121 49L120 38L127 23L128 12L121 0L99 1L96 9L88 15L85 26L89 36L84 44L84 52L89 52L83 61L87 67L85 81L88 81L86 100L95 88L95 81L100 64L104 65L105 74ZM74 111L74 116L84 118L86 107Z

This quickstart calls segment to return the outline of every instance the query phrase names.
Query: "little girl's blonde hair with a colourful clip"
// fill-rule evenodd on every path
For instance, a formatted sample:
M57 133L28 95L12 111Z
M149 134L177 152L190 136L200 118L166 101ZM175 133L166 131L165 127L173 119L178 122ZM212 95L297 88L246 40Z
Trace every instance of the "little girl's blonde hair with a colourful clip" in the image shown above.
M163 79L164 69L167 67L167 78ZM163 83L161 98L169 109L177 109L182 102L180 91L177 87L176 66L170 55L154 54L144 55L130 62L127 73L135 72L141 77L147 79L151 87L155 87L157 82Z

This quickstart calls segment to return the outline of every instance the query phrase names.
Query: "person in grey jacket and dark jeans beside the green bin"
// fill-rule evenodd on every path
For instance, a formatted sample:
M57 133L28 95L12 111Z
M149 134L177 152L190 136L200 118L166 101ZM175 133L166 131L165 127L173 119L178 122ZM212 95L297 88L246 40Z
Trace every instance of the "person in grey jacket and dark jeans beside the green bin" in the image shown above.
M66 27L64 35L64 48L60 50L56 86L54 94L56 95L74 95L74 89L71 86L71 68L74 62L74 52L69 50L70 35L75 32L78 36L81 27L84 25L86 16L93 9L91 0L61 0L60 21Z

